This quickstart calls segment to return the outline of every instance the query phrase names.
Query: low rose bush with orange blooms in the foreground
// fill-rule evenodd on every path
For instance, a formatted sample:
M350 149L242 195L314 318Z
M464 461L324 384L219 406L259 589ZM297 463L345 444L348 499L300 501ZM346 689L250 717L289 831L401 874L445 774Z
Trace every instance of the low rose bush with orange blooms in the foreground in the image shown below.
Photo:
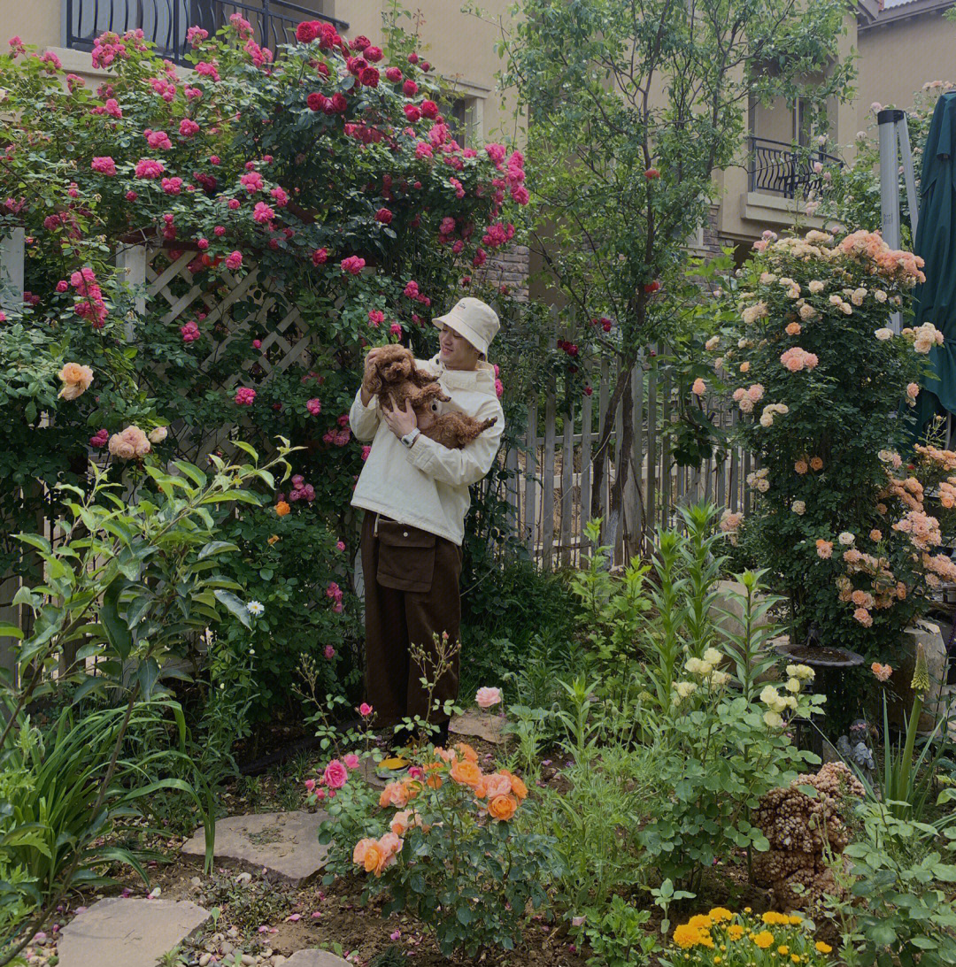
M415 759L377 800L367 783L347 781L348 763L336 760L310 789L332 815L319 836L333 843L330 878L358 866L368 874L366 896L389 894L386 916L414 913L446 956L513 950L529 901L539 909L547 899L553 838L523 831L523 780L507 770L484 774L467 744L429 747ZM334 765L341 769L330 777Z

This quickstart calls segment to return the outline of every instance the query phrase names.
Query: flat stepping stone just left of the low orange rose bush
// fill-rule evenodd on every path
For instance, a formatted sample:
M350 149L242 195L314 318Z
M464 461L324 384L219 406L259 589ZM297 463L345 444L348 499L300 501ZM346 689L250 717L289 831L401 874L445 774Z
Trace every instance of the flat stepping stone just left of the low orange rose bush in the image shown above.
M327 812L260 812L228 816L216 823L216 859L239 860L265 867L293 883L314 876L325 864L328 846L318 841ZM205 835L197 830L183 844L189 856L204 856Z

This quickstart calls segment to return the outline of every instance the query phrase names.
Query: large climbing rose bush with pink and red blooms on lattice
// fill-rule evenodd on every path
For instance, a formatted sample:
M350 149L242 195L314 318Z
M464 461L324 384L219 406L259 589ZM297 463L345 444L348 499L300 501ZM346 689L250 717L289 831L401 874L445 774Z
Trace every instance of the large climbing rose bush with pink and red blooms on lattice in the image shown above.
M11 533L49 510L52 484L82 484L91 452L117 476L148 453L201 462L235 427L260 450L279 434L302 447L304 484L230 524L236 576L265 613L261 640L225 633L255 645L267 703L288 695L301 652L349 652L355 609L325 591L349 586L356 550L349 498L368 448L347 412L365 348L401 338L431 355L430 319L463 286L485 292L479 270L514 237L527 190L520 153L454 140L398 37L379 54L315 21L277 57L239 15L189 36L180 76L141 31L104 34L95 89L18 39L0 55L15 119L0 232L26 237L23 305L7 312L19 335L2 347L25 362L0 377L0 501ZM116 270L134 244L164 282L143 311ZM494 301L507 316L508 297ZM504 529L503 476L469 518L486 545ZM23 564L3 549L3 571Z

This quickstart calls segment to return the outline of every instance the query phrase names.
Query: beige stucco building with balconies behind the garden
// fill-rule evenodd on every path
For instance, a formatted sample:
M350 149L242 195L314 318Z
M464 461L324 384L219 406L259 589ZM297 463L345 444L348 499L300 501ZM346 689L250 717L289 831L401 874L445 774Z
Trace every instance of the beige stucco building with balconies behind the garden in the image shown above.
M819 185L812 167L795 160L794 141L847 157L856 132L874 122L872 103L908 107L924 83L956 81L956 23L942 16L954 5L956 0L857 0L841 39L841 55L857 57L857 93L851 103L832 105L826 145L817 144L818 132L808 129L799 104L749 105L748 136L737 163L717 176L720 201L694 247L730 243L743 251L763 229L792 224L808 190ZM501 64L495 44L510 29L511 0L481 0L481 17L463 13L462 0L412 0L406 6L414 18L403 22L413 23L425 56L454 92L460 139L477 143L506 134L521 144L523 125L513 99L495 81ZM243 0L241 6L225 0L0 0L0 25L4 37L19 34L27 44L55 50L70 70L95 73L81 48L88 50L90 39L107 28L142 26L175 58L187 26L218 26L236 10L274 46L310 12L336 18L346 37L364 33L374 42L390 8L390 0Z

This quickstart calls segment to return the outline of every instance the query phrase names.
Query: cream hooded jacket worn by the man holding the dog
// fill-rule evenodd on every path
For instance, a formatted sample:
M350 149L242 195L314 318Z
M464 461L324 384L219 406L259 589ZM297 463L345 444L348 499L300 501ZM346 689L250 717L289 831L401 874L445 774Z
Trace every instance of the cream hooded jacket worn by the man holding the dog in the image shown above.
M445 412L479 420L497 417L497 422L462 450L449 450L424 435L409 449L382 420L376 397L368 406L362 405L360 389L348 422L359 440L373 443L352 507L376 511L461 545L464 516L471 504L468 487L492 469L504 430L504 411L494 392L494 368L479 363L472 371L446 369L437 356L428 362L417 360L416 365L437 375L445 395L451 396L450 402L438 404Z

